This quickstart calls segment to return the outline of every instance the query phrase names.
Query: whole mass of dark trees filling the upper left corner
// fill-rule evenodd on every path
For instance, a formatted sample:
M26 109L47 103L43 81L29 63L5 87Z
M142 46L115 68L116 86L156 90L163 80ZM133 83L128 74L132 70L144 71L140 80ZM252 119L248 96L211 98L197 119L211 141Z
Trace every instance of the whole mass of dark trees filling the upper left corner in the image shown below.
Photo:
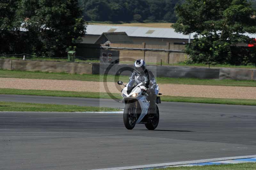
M77 0L0 0L0 54L65 56L85 34L82 14Z

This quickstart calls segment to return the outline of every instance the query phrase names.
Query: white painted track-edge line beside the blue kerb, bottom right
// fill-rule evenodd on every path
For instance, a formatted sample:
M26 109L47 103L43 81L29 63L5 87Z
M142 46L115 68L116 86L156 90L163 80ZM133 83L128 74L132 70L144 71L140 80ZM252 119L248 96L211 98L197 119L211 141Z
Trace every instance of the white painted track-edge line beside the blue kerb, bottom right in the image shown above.
M138 166L123 166L115 168L103 168L103 169L94 169L94 170L127 170L127 169L143 169L143 168L153 168L153 167L163 167L163 166L177 166L177 165L187 165L187 164L196 164L196 163L205 163L205 162L214 162L214 161L225 161L232 159L242 159L242 158L254 158L256 155L247 155L247 156L238 156L238 157L225 157L225 158L212 158L212 159L200 159L192 161L182 161L182 162L169 162L162 164L148 164L148 165L138 165Z

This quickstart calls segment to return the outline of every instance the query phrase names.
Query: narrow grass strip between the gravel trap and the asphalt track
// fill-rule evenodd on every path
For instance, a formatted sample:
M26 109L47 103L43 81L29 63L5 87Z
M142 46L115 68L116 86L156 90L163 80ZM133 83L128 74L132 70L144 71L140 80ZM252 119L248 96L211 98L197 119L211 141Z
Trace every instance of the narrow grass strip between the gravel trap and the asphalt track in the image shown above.
M107 93L99 93L99 92L96 93L96 92L73 92L73 91L52 91L52 90L0 89L0 94L110 99ZM118 93L113 93L113 95L120 100L122 99L122 97ZM206 98L206 97L161 96L161 101L206 103L206 104L252 105L252 106L256 105L256 100L252 100L252 99L224 99L224 98Z

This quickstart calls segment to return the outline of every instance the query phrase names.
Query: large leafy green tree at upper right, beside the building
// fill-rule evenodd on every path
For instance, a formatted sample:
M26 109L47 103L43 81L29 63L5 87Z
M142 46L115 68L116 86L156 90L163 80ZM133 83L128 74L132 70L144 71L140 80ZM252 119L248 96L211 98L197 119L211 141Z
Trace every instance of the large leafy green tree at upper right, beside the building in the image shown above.
M246 0L186 0L175 11L175 31L195 33L185 50L194 62L237 64L232 50L252 42L244 33L256 33L255 10Z

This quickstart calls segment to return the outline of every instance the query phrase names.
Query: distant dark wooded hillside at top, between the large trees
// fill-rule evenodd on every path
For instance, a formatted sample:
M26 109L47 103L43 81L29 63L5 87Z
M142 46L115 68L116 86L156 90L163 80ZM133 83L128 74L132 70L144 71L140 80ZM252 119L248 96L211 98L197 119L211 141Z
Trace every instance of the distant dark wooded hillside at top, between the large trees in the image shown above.
M181 0L80 0L87 21L175 22Z

